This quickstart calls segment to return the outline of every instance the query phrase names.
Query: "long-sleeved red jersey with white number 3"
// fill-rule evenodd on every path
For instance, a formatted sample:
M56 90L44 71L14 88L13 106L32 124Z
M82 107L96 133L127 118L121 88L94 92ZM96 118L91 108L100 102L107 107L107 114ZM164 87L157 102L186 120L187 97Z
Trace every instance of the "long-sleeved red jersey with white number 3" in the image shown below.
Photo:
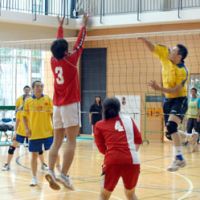
M80 83L78 77L77 62L83 52L83 43L86 36L86 28L82 27L73 52L63 59L51 58L51 69L54 76L53 104L56 106L68 105L80 102ZM57 38L63 38L63 27L58 28Z

